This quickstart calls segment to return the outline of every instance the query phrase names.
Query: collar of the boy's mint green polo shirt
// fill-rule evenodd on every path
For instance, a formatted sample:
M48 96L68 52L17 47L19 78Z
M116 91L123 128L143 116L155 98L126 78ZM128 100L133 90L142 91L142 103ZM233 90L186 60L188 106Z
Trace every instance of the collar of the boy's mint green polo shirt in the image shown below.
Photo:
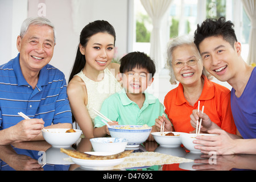
M154 104L156 102L156 98L154 96L152 96L151 94L144 92L144 95L145 95L145 101L144 101L143 105ZM119 92L119 98L120 98L123 106L133 103L133 101L131 101L130 98L127 96L124 88Z

